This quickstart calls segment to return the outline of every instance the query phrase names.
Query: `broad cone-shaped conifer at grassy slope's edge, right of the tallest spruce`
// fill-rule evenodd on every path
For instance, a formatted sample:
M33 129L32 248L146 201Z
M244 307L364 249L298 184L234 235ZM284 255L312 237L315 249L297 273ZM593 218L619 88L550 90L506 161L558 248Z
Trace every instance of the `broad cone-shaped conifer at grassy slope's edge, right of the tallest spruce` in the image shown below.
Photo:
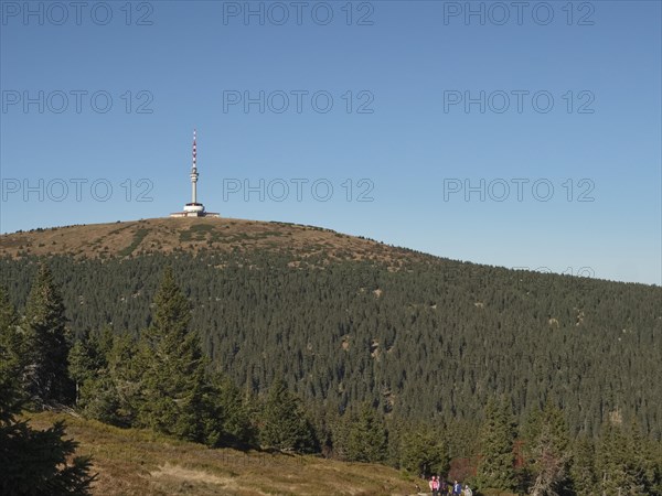
M269 389L260 414L259 442L266 448L312 453L319 450L311 422L299 397L281 379Z

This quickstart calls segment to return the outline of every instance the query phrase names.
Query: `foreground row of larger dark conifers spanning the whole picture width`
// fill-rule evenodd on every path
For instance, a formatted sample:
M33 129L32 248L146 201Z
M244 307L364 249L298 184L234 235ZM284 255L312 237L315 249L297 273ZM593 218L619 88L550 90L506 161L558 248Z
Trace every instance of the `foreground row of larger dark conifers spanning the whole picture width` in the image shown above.
M45 265L22 317L0 292L0 451L12 467L3 474L3 493L30 494L11 486L30 484L28 474L33 472L28 471L34 468L34 461L30 465L15 457L23 446L17 444L15 432L26 425L7 414L7 405L22 401L34 409L72 407L107 423L149 428L213 448L317 453L386 463L421 476L460 477L483 494L490 489L536 496L662 494L661 444L618 410L599 435L575 436L565 409L553 400L528 409L522 422L506 395L491 395L473 419L405 421L385 412L376 397L343 410L303 400L278 377L264 391L239 388L203 352L191 322L191 302L172 269L167 266L161 272L150 324L135 334L105 327L75 339ZM62 433L63 427L56 425L46 436L32 440L33 446L47 442L63 453L49 463L62 464L73 453L75 445L63 443ZM465 472L452 472L452 453L468 461ZM7 470L3 465L0 470ZM93 479L84 459L64 462L54 474L61 485L53 487L62 493L87 494Z

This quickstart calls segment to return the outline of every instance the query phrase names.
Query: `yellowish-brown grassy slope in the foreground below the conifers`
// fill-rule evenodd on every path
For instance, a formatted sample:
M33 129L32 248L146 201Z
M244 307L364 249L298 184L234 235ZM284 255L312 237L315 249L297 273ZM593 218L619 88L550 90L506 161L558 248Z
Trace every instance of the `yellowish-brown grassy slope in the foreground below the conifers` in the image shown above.
M79 442L77 455L93 455L96 495L406 495L415 484L394 468L316 456L221 449L172 440L150 431L118 429L64 414L26 414L46 429L64 420Z

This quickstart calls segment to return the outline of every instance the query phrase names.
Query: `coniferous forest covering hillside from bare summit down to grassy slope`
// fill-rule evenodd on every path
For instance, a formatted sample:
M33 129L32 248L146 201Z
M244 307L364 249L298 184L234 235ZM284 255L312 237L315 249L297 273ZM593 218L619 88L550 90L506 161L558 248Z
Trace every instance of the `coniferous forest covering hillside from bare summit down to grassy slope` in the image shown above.
M662 494L660 288L292 250L0 259L3 410L483 494Z

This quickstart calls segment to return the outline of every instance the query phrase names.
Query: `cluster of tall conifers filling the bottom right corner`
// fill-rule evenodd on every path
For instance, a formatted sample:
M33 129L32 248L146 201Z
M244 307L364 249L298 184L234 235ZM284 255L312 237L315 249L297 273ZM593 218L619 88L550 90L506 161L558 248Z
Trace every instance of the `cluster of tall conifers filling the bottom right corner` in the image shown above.
M484 408L468 477L480 490L533 496L660 495L662 450L642 435L636 421L613 416L596 439L573 438L560 408L547 403L522 424L505 398Z

